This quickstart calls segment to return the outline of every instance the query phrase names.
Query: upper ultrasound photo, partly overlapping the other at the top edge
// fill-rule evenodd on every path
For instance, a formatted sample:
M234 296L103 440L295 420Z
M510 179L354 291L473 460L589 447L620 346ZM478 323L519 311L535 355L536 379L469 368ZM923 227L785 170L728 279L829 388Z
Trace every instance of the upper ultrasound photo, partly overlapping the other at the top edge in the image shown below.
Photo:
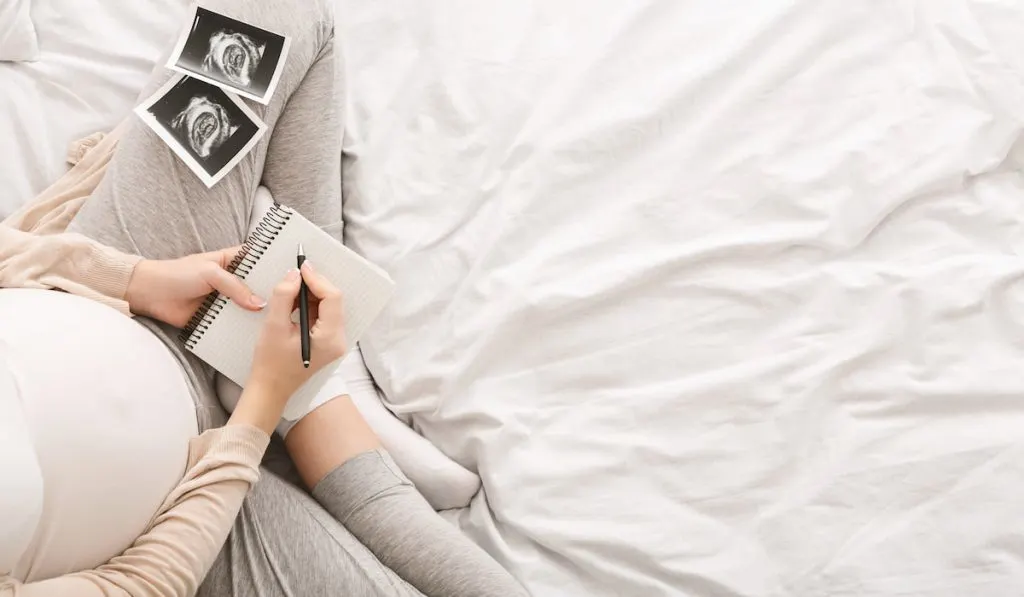
M291 39L194 5L167 66L261 103L270 100Z

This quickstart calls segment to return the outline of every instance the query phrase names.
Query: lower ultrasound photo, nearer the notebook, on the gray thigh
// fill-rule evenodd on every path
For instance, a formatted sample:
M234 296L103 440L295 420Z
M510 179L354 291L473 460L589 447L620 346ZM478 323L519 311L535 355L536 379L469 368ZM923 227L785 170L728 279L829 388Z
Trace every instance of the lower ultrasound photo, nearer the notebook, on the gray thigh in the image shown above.
M177 76L135 109L207 186L248 154L266 125L220 87Z

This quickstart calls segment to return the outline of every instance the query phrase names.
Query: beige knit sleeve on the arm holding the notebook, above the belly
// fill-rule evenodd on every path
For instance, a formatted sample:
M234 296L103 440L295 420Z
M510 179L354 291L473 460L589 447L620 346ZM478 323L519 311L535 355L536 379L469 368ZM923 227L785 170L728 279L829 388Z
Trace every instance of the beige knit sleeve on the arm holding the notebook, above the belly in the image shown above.
M125 292L140 260L81 234L35 234L0 224L0 288L58 289L129 314Z

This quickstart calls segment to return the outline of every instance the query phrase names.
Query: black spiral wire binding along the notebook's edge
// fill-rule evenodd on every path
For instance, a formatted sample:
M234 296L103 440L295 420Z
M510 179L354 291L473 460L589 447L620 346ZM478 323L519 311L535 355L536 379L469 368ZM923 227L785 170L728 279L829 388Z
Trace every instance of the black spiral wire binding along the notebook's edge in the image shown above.
M263 214L263 218L256 224L256 228L249 234L249 238L246 239L239 254L228 263L227 271L245 280L253 267L256 266L260 257L263 256L263 253L266 253L270 245L273 244L274 239L278 238L278 234L281 233L281 230L284 229L285 224L288 223L288 220L292 218L294 213L291 208L274 202L270 209L266 210L266 213ZM206 299L203 300L203 304L193 313L191 318L188 319L188 324L178 335L178 338L184 343L185 348L189 350L196 348L203 335L213 325L213 321L224 309L228 300L226 296L221 295L217 291L207 295Z

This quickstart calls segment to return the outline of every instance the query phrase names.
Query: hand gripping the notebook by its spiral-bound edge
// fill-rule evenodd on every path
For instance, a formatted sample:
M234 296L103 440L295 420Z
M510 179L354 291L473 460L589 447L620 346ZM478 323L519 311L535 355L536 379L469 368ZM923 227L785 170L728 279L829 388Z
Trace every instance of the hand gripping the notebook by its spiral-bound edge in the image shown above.
M227 264L239 249L229 247L180 259L139 261L125 293L131 312L182 328L213 291L244 309L262 309L266 301L227 271Z

